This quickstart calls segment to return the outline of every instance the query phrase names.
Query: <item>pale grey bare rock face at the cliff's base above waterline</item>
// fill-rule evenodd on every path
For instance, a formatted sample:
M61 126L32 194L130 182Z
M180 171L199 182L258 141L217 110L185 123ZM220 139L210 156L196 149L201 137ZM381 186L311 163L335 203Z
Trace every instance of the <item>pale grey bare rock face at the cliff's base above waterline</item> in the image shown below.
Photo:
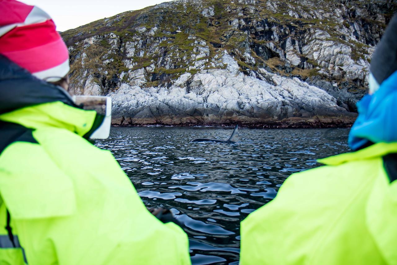
M339 117L348 111L335 97L298 78L286 78L262 69L258 80L236 71L230 55L222 59L227 70L183 74L169 88L141 88L121 84L113 99L114 119L125 124L203 124L264 122L292 117ZM354 117L354 115L348 115ZM128 117L128 119L125 119Z

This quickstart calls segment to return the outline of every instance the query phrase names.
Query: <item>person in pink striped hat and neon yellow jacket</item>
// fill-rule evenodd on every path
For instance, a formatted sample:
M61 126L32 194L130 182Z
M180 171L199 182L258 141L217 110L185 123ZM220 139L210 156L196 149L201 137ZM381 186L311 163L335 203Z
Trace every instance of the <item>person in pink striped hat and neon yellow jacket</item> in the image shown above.
M64 49L42 10L0 0L0 264L190 264L185 232L83 137L101 117L40 80L67 87Z

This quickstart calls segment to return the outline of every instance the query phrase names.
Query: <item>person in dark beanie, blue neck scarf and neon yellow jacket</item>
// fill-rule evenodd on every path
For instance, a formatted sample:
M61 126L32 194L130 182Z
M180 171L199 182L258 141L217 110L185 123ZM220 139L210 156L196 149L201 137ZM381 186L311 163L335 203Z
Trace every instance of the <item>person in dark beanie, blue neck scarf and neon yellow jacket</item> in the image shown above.
M397 264L397 16L371 60L353 151L295 173L241 222L240 264Z

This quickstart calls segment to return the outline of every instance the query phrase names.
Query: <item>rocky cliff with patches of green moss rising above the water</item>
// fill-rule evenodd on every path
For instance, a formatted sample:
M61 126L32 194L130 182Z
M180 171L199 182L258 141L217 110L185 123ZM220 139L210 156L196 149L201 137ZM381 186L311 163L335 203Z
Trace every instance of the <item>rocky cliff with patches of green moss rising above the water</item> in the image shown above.
M396 1L179 0L62 33L114 125L351 124Z

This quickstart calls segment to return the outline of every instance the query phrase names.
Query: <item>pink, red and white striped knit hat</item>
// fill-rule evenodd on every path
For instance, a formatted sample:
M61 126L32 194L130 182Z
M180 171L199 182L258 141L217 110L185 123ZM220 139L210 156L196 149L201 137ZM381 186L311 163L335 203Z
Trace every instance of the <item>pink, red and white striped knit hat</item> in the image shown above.
M15 0L0 0L0 54L49 82L69 72L69 53L54 21Z

